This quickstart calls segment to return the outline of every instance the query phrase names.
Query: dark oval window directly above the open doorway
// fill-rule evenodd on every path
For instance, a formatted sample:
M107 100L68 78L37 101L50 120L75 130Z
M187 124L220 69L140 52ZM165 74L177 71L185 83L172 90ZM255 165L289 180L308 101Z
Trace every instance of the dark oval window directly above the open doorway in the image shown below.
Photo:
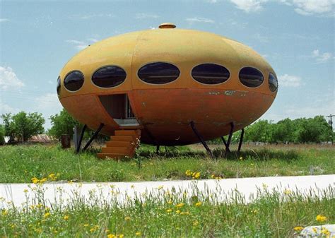
M101 88L112 88L120 85L127 77L127 73L118 66L105 66L93 73L92 81Z

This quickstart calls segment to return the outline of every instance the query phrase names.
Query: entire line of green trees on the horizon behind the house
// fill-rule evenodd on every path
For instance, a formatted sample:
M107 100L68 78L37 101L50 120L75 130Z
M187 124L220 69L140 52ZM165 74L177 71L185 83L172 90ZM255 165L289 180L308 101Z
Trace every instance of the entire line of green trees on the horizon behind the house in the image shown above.
M44 133L45 119L37 112L18 114L2 114L3 124L0 124L0 145L4 144L4 136L9 136L10 141L28 141L31 136ZM47 131L49 136L61 138L61 135L74 135L74 127L81 128L76 119L62 109L59 114L50 117L52 127ZM84 138L89 138L93 131L87 131ZM240 140L241 131L233 133L233 143ZM226 136L227 137L227 136ZM107 136L100 135L100 140L107 140ZM331 141L334 132L326 119L322 116L314 118L283 119L274 123L268 120L259 120L245 128L245 142L262 143L321 143ZM216 138L211 143L222 143L221 138Z

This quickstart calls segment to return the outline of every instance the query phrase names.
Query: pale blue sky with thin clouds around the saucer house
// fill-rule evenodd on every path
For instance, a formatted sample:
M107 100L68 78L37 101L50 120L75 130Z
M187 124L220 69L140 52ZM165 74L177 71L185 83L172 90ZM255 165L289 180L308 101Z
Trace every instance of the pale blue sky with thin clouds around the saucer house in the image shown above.
M264 56L279 90L262 119L334 114L334 6L335 0L0 0L0 114L58 113L57 76L74 54L164 22L230 37Z

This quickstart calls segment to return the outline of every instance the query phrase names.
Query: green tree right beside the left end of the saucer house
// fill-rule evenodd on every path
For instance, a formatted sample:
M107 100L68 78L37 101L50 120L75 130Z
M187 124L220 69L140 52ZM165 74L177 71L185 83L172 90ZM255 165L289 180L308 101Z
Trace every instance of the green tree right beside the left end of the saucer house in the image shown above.
M59 114L52 115L50 120L52 128L49 129L48 134L56 138L60 138L64 134L72 137L74 135L74 126L81 126L65 109L62 109Z

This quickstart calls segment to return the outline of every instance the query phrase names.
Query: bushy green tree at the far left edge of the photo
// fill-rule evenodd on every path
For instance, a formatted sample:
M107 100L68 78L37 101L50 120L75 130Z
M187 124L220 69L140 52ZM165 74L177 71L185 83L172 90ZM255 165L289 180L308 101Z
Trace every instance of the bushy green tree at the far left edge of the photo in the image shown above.
M5 124L5 135L11 137L11 141L17 138L18 141L28 141L31 136L44 132L43 124L45 119L42 114L33 112L18 112L18 114L3 114Z

